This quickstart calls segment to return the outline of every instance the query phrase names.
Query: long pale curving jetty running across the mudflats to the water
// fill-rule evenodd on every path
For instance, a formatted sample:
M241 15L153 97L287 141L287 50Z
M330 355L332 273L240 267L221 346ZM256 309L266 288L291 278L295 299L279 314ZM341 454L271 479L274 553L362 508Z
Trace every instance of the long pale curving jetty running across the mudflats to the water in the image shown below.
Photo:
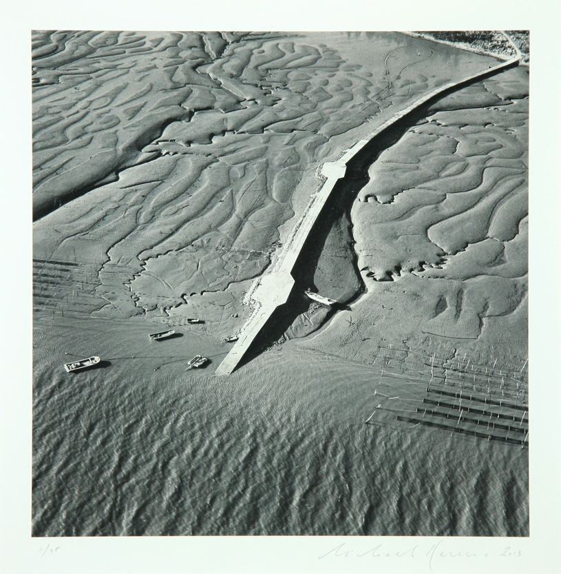
M431 90L413 103L410 103L410 105L407 105L403 110L394 114L390 119L381 123L381 125L368 136L368 139L361 139L357 143L354 143L337 161L326 162L321 165L320 174L322 178L325 178L324 185L321 186L318 192L310 196L310 201L304 210L304 214L302 214L293 231L290 233L282 254L273 269L259 278L253 284L248 296L246 296L246 302L253 306L253 313L242 328L240 337L235 342L235 345L218 366L218 369L216 369L217 375L229 375L233 372L275 309L284 305L288 300L295 284L292 271L296 260L319 214L321 214L322 209L324 209L335 184L339 179L345 176L349 161L360 152L365 145L370 143L372 139L384 130L387 130L388 127L439 94L454 88L461 88L463 85L471 83L472 81L500 72L505 68L518 64L519 61L520 52L518 52L517 57L514 59L503 61L500 64L491 66L491 68L487 68L461 80L438 86L438 88Z

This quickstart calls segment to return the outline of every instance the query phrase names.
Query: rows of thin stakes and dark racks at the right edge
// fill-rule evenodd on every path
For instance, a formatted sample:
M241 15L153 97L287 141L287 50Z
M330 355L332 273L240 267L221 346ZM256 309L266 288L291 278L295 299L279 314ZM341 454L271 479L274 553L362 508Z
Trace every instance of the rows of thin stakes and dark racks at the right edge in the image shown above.
M381 376L416 378L419 385L425 381L422 399L407 399L407 404L401 405L405 409L396 408L395 403L388 409L382 407L397 411L398 421L522 448L529 446L527 360L516 369L511 365L497 367L497 360L489 364L472 362L467 354L436 360L433 353L427 360L426 355L410 349L379 349L383 349L379 356ZM412 402L421 404L413 407Z

